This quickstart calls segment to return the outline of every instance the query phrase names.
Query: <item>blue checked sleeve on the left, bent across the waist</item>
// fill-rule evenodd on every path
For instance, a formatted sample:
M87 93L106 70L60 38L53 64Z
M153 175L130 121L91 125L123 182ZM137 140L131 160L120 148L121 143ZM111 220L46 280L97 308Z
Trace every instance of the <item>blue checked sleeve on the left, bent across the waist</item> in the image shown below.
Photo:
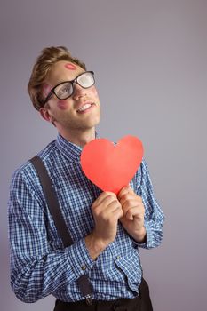
M94 263L84 238L65 249L52 250L42 205L21 171L16 171L8 207L11 285L24 302L35 302L76 282Z

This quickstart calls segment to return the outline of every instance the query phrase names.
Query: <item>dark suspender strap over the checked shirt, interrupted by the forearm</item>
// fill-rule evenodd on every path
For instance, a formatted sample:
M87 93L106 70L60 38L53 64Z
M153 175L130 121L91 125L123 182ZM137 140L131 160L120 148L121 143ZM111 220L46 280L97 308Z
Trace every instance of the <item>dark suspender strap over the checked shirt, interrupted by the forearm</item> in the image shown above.
M62 239L65 247L73 244L73 240L69 234L68 227L66 226L65 220L60 211L60 204L57 199L57 195L52 187L52 180L50 179L48 172L44 166L44 163L39 156L34 156L31 160L33 163L40 183L43 187L44 197L47 202L48 208L51 212L52 219L54 221L55 227ZM80 290L86 299L88 305L92 304L92 286L89 282L87 275L82 275L77 280Z

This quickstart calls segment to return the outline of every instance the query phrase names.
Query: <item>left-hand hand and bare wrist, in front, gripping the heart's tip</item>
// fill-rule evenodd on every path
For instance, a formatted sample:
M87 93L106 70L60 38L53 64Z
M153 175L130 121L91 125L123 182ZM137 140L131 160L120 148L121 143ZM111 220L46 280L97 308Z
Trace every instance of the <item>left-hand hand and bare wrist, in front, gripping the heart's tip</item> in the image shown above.
M112 192L102 192L92 203L95 227L85 237L86 247L92 259L99 256L109 243L115 241L118 219L123 217L122 206Z

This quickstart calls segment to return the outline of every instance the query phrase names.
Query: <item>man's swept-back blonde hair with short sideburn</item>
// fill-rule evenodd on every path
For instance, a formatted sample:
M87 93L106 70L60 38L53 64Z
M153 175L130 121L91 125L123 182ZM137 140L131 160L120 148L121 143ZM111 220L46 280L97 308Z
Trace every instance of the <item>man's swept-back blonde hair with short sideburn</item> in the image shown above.
M42 92L46 76L49 74L52 65L59 60L67 60L86 70L83 61L71 55L65 46L46 47L37 57L28 82L28 94L36 110L43 107L44 94Z

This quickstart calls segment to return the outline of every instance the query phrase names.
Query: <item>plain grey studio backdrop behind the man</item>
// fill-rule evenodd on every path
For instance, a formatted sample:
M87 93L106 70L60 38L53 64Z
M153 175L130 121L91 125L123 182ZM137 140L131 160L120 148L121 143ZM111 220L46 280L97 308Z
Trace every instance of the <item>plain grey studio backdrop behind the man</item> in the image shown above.
M141 251L155 311L206 310L207 1L2 0L1 310L52 310L15 298L7 201L12 171L56 138L28 98L38 53L66 45L96 73L98 131L138 136L166 215L163 244Z

